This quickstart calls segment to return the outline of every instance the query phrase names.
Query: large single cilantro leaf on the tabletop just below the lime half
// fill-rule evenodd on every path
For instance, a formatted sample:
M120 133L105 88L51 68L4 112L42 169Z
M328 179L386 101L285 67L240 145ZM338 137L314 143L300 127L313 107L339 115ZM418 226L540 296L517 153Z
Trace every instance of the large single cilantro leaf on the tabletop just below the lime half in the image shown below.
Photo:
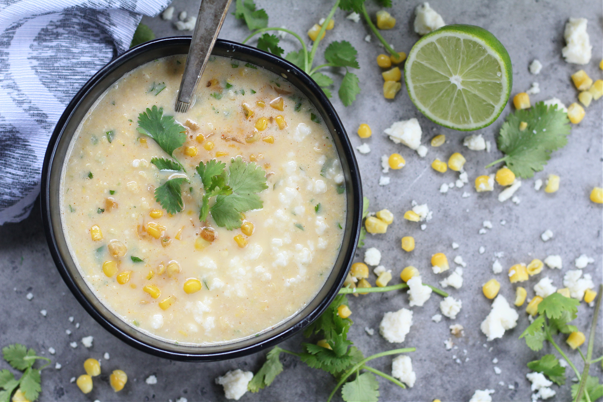
M523 131L519 130L521 122L528 124ZM505 157L497 162L507 163L518 177L532 177L534 172L544 169L552 151L566 145L570 131L567 113L557 106L538 102L532 108L517 110L507 116L500 128L496 143Z

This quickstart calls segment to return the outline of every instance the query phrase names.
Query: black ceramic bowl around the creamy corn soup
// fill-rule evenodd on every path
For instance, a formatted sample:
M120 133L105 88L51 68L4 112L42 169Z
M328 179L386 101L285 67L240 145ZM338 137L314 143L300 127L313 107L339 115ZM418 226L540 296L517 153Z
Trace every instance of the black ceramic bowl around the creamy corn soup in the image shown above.
M317 296L305 309L273 330L254 338L224 345L190 347L160 341L142 333L114 315L89 289L69 253L59 212L59 184L69 143L86 112L96 99L122 75L138 66L174 54L188 53L191 37L157 39L132 48L104 66L75 95L52 133L42 171L42 219L48 245L65 283L90 315L110 333L135 348L175 360L210 361L232 359L278 344L318 318L343 283L358 241L362 218L362 190L358 165L335 109L318 85L294 64L273 54L240 43L218 40L213 54L256 64L286 77L317 108L330 130L341 160L347 189L346 231L335 266Z

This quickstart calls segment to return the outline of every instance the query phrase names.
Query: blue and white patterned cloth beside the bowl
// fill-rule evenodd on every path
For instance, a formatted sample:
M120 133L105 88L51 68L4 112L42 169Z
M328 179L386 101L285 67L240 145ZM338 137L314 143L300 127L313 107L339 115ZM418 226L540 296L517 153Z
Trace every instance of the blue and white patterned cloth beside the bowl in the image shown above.
M0 0L0 225L27 218L75 93L171 0Z

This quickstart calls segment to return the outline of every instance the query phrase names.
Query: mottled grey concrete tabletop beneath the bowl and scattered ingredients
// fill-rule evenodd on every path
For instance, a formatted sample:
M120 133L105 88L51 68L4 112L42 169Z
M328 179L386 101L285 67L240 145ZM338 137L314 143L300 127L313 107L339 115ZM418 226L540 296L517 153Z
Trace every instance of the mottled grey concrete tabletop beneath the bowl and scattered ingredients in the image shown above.
M305 31L312 24L326 16L332 5L332 1L327 0L256 2L259 7L267 8L270 25L285 25L303 37L306 37ZM376 7L370 0L368 4L371 14L374 14ZM408 52L418 39L411 28L417 4L418 1L394 1L391 13L396 17L397 25L383 34L397 49ZM598 68L602 57L601 2L432 0L430 4L448 24L480 25L500 39L513 60L513 93L525 91L532 81L538 81L541 93L532 96L533 101L557 96L566 105L576 99L577 93L569 75L579 67L567 64L561 58L561 48L564 46L563 27L568 17L587 17L590 40L594 47L592 61L583 68L591 77L601 78L601 70ZM176 0L174 6L177 11L196 13L198 0ZM544 259L549 254L560 254L563 257L561 271L545 268L540 275L524 283L528 297L534 295L533 285L545 275L554 280L555 286L562 287L564 272L572 269L573 260L583 253L595 259L595 263L584 269L584 272L592 274L597 285L601 283L601 206L590 203L588 196L590 189L601 186L603 181L603 99L593 102L587 109L584 121L573 127L567 146L554 152L545 170L535 175L535 178L545 178L549 173L559 174L561 186L557 193L546 194L542 190L536 192L533 189L534 179L528 179L524 180L517 192L521 201L518 205L511 201L499 203L496 199L498 189L493 193L478 195L472 186L467 186L441 194L438 191L440 184L455 180L456 175L451 171L443 175L434 172L429 164L435 157L447 159L452 152L462 152L467 158L465 168L473 180L486 172L484 166L487 163L500 157L499 152L496 148L489 154L464 148L464 134L429 122L412 105L405 89L393 101L385 100L381 95L380 69L374 63L381 48L374 38L371 43L364 41L369 31L362 22L355 24L345 19L345 16L341 11L335 14L335 30L329 31L321 49L332 40L343 39L356 46L361 69L355 72L359 75L362 92L351 107L343 107L336 98L333 99L333 104L354 145L361 143L355 134L359 124L368 123L373 128L373 137L366 141L372 151L367 155L358 155L364 191L370 198L372 211L388 208L396 215L388 233L370 237L367 247L377 247L382 251L382 264L393 270L394 278L404 266L414 265L423 272L424 280L434 285L446 274L432 274L429 269L431 254L443 251L451 263L453 257L460 255L467 263L463 287L458 291L450 291L455 298L463 300L463 310L456 320L444 318L440 323L431 321L431 316L439 312L438 304L441 300L435 294L425 306L412 309L414 324L402 346L417 348L411 354L414 371L417 373L414 388L403 390L379 380L380 400L431 401L440 398L467 401L475 389L489 388L496 390L492 395L495 401L528 401L531 391L525 378L528 372L526 362L555 351L550 345L546 345L543 351L534 353L526 347L523 340L517 339L528 325L523 308L519 309L520 318L516 328L507 331L502 339L486 342L484 334L479 330L479 323L488 314L490 302L482 296L481 285L496 277L502 284L500 294L513 300L514 286L508 282L506 275L493 275L491 271L494 253L500 251L504 252L500 262L505 270L514 263L529 262L534 257ZM182 34L172 28L171 22L159 18L145 17L144 22L153 28L158 37ZM220 37L240 41L247 35L247 28L229 15ZM282 41L282 47L286 51L297 50L297 46L291 36ZM528 64L534 58L538 58L544 66L537 76L528 72ZM320 61L319 55L317 63ZM327 74L335 81L341 80L338 71ZM493 125L479 130L479 133L494 143L504 116L510 111L511 107L507 107ZM382 134L391 122L412 117L418 118L423 127L423 143L428 143L437 133L446 134L447 137L446 144L440 148L430 147L425 159L418 158L405 146L394 145ZM390 172L389 186L379 187L380 155L390 154L394 150L405 157L407 165L401 171ZM470 193L469 198L461 197L464 191ZM427 203L433 211L434 217L428 222L425 231L421 231L417 224L402 219L403 212L409 209L413 199L418 203ZM494 227L486 234L478 234L484 220L491 221ZM505 225L500 224L503 220L506 221ZM552 230L554 237L545 243L540 239L540 234L546 229ZM400 237L405 235L412 235L416 239L417 248L412 253L400 250ZM264 353L226 362L183 363L159 359L134 350L96 324L68 291L52 263L37 210L20 224L0 227L0 238L0 283L4 283L0 292L0 345L21 342L45 353L53 362L62 364L60 370L48 368L43 371L40 400L162 401L179 397L185 397L189 401L225 400L223 390L213 381L215 377L235 368L256 371L264 362ZM452 242L459 243L458 250L452 250ZM485 253L479 254L478 249L482 246L485 247ZM357 260L361 259L361 253L362 251L358 253ZM374 277L371 277L371 281L374 281ZM394 282L397 280L394 279ZM28 292L34 295L31 301L26 298ZM408 307L407 295L396 292L351 299L355 324L350 330L349 338L365 355L399 347L397 344L388 344L379 334L368 336L363 328L378 328L384 312ZM42 309L47 310L46 316L40 315ZM69 322L69 316L75 318L74 322ZM592 309L582 303L576 325L586 332L591 318ZM76 323L80 324L79 328ZM458 349L447 351L443 342L450 337L448 327L453 323L464 325L465 336L455 340ZM71 335L66 334L68 329L73 331ZM80 342L83 336L88 335L94 336L93 347L89 349ZM601 339L599 320L596 356L602 351ZM78 342L77 348L69 346L72 341ZM299 350L301 341L303 336L298 334L284 342L282 347ZM560 343L564 344L563 337L560 337ZM54 356L49 355L49 347L55 348ZM102 360L103 374L95 379L95 388L90 394L81 394L69 379L83 374L84 359L99 359L105 352L110 353L110 360ZM576 352L567 353L581 366ZM453 360L453 355L461 359L460 364ZM494 373L495 364L492 360L495 357L499 360L496 366L502 370L499 375ZM282 362L285 371L276 378L273 385L259 394L247 393L241 400L325 400L335 385L329 374L308 368L295 357L282 356ZM373 360L371 365L390 372L391 357ZM0 363L0 369L6 367L5 362ZM127 372L129 378L125 389L118 394L113 393L108 385L109 373L116 368ZM553 386L557 395L551 400L570 399L573 374L569 368L566 372L566 385ZM592 368L591 373L601 377L601 366ZM157 376L156 385L145 383L145 378L151 374ZM499 385L499 382L504 382L504 385ZM508 385L513 385L515 389L509 389Z

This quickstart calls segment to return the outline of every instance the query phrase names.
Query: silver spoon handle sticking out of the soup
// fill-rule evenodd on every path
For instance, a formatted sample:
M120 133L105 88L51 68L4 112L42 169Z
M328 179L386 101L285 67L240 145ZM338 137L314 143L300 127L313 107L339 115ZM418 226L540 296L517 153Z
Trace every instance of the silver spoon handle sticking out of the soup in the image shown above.
M191 47L186 58L185 72L180 82L180 91L175 111L185 113L191 107L191 101L203 70L212 54L213 44L232 0L202 0L197 16L197 24L192 34Z

